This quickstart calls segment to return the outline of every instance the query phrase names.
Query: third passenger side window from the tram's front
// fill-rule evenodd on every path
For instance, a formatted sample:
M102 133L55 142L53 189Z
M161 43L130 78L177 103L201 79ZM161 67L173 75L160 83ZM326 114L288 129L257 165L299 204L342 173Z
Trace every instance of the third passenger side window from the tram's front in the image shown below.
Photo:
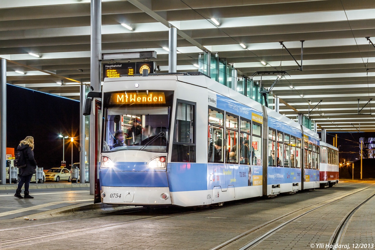
M240 164L252 164L252 159L254 159L254 147L252 147L251 141L251 122L241 120L240 123L240 145L241 140L243 141L242 150L240 150ZM241 160L243 157L243 160Z

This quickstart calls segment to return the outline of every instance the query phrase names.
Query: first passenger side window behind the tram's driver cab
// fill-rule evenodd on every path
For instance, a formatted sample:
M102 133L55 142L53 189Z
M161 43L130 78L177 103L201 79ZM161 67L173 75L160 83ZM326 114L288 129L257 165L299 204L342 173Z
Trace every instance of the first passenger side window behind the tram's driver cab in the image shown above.
M222 112L208 109L208 162L224 163L224 157L229 161L229 152L223 141L223 118Z

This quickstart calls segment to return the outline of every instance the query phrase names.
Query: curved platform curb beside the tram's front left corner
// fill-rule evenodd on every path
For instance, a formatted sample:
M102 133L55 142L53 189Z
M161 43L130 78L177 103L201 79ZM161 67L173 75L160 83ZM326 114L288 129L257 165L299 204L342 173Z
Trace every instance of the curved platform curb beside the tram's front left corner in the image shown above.
M103 203L93 204L93 203L80 203L73 204L62 208L55 208L45 212L40 212L36 214L30 214L27 217L30 219L46 219L51 217L59 217L70 214L79 214L87 212L97 212L97 211L113 211L113 210L123 210L136 208L136 206L129 205L107 205ZM23 219L25 216L17 217L15 219Z

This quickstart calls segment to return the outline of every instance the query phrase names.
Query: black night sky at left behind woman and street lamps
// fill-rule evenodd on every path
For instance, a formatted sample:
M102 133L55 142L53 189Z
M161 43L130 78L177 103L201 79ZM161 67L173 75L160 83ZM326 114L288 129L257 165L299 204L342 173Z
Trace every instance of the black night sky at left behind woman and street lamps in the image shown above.
M39 167L59 167L63 160L63 140L77 137L73 162L79 162L80 103L26 88L7 84L7 142L17 148L26 136L34 137L34 155ZM65 161L71 164L72 143L65 139Z

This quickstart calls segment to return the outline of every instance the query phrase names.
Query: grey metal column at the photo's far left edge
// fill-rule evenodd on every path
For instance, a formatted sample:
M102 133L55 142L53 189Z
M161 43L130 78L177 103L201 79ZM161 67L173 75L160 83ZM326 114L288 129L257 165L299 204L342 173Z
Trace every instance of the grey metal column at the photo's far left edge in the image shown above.
M6 59L0 59L0 184L6 184Z

